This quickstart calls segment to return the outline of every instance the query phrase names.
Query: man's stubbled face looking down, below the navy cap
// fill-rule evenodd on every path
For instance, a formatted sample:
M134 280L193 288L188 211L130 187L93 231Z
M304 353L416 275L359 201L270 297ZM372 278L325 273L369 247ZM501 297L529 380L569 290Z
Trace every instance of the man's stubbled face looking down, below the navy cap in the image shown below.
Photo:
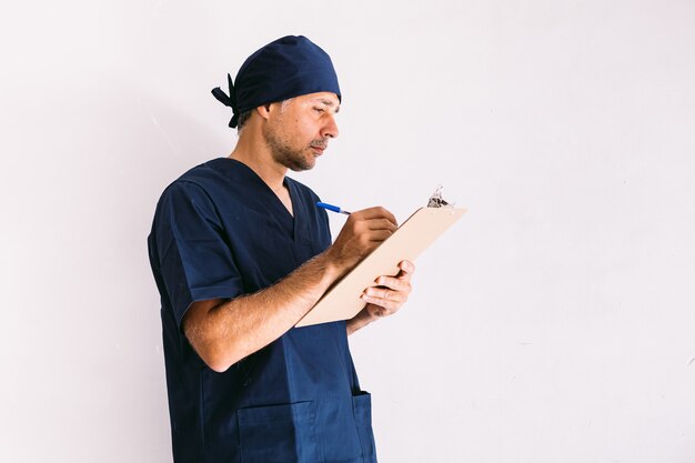
M263 138L275 162L293 171L309 170L338 137L335 113L340 100L335 93L321 92L295 97L271 104L263 125Z

